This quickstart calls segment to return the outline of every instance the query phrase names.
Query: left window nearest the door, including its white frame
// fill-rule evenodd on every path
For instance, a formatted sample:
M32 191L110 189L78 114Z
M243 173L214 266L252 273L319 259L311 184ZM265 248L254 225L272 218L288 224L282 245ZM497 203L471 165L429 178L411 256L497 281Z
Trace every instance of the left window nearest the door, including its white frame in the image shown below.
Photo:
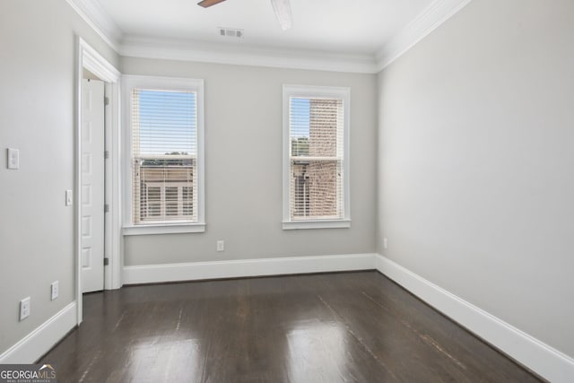
M204 231L203 81L124 76L125 234Z

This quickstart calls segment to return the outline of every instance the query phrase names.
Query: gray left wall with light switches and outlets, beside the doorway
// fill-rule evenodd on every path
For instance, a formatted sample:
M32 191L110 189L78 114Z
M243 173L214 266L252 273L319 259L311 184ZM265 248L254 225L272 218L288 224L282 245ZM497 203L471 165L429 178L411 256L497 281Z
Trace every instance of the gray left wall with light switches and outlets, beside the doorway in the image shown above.
M0 2L0 353L74 300L75 35L117 55L64 0ZM20 170L6 170L6 148ZM50 301L50 283L59 298ZM30 318L18 321L31 297Z

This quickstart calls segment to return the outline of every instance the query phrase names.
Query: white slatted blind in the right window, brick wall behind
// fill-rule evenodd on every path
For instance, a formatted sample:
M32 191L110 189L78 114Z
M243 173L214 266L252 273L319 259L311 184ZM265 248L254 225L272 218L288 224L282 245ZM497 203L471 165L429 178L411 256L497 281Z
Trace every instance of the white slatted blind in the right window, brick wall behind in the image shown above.
M288 222L348 218L348 206L345 206L346 100L344 96L316 93L287 92Z

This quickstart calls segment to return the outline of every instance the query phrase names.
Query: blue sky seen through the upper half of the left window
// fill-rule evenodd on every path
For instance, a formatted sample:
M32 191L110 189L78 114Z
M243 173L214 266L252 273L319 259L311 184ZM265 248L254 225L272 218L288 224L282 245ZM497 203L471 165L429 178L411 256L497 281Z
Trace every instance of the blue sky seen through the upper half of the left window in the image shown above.
M137 91L142 155L196 155L196 93L142 89Z

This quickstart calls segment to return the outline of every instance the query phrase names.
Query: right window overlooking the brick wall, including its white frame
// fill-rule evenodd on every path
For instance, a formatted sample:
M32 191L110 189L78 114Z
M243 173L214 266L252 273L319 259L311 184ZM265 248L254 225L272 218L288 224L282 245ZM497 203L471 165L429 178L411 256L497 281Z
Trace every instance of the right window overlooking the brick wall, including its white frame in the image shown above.
M283 85L283 229L350 227L349 99Z

